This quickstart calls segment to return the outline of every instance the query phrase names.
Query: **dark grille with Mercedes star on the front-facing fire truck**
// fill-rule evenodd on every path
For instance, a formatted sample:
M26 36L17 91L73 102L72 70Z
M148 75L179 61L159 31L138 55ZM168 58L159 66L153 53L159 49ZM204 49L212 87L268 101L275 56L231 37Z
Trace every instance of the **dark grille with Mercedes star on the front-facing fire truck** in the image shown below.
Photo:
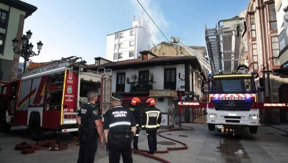
M235 106L230 106L230 100L212 100L217 111L250 111L251 100L235 100Z

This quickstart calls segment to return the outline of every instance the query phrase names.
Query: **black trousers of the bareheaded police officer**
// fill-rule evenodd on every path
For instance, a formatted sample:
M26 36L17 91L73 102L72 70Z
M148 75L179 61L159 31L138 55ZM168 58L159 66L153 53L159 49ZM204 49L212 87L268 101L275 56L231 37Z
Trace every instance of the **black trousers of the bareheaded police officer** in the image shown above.
M90 134L82 134L80 138L80 149L77 163L94 162L97 150L97 136L90 138Z

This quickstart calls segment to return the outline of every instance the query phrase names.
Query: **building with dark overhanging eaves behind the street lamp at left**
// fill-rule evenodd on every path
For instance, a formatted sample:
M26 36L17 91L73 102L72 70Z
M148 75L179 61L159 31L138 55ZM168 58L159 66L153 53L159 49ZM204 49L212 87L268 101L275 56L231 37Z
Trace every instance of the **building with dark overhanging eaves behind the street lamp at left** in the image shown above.
M0 80L17 78L19 55L13 52L12 39L20 40L24 20L37 10L35 6L19 0L0 2ZM19 50L20 44L16 47Z

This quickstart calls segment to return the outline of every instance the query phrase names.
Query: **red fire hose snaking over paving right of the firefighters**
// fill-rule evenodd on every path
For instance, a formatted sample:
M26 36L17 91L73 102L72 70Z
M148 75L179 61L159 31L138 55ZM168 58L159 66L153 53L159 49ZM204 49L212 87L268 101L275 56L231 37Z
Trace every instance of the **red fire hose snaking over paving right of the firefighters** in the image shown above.
M190 122L184 122L184 123L190 123ZM176 125L178 125L178 123L176 123ZM182 125L183 126L183 125ZM168 140L171 140L171 141L174 141L174 142L177 142L179 144L182 144L183 146L182 147L167 147L166 150L164 151L155 151L155 153L168 153L169 150L183 150L183 149L188 149L188 146L187 144L181 142L181 141L178 141L178 140L175 140L175 139L171 139L171 138L168 138L166 136L163 136L161 135L161 133L164 133L164 132L170 132L170 131L187 131L187 130L193 130L194 128L193 127L189 127L189 126L183 126L183 127L186 127L188 129L170 129L170 130L167 130L167 131L159 131L157 132L157 135L159 135L160 137L163 137L165 139L168 139ZM146 156L146 157L150 157L152 159L155 159L155 160L158 160L160 162L164 162L164 163L171 163L170 161L166 160L166 159L163 159L161 157L158 157L158 156L155 156L155 155L152 155L152 154L148 154L148 150L142 150L142 149L139 149L139 150L136 150L134 148L132 148L132 151L134 153L138 153L138 154L141 154L143 156Z

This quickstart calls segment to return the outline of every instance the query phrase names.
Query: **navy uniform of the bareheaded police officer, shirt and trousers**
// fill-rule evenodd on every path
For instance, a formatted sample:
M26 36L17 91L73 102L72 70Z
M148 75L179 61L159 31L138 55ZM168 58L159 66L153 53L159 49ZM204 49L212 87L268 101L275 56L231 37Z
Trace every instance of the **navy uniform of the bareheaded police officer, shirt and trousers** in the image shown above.
M81 117L80 149L78 163L94 162L97 150L98 133L94 121L99 120L99 106L97 104L84 103L77 116Z

